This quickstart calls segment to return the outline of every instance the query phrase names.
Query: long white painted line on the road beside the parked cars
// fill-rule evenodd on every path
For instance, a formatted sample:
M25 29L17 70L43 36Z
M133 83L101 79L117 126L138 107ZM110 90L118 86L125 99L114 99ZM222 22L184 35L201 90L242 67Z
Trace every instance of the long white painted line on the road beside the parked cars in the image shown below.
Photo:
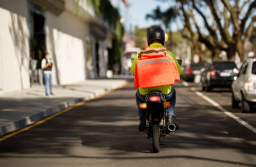
M195 88L192 88L191 91L195 91ZM230 113L229 111L227 111L226 109L224 109L222 106L220 106L218 103L216 103L216 101L213 101L212 99L210 99L209 97L203 95L203 93L195 91L195 94L197 94L199 97L202 97L203 99L205 99L206 101L208 101L209 103L211 103L212 105L214 105L215 107L217 107L218 109L220 109L220 111L224 112L226 115L232 117L232 119L238 121L238 123L241 123L241 125L244 125L245 127L247 127L248 129L250 129L251 131L253 131L254 133L256 133L256 128L249 125L247 122L243 121L241 118L237 117L236 115Z

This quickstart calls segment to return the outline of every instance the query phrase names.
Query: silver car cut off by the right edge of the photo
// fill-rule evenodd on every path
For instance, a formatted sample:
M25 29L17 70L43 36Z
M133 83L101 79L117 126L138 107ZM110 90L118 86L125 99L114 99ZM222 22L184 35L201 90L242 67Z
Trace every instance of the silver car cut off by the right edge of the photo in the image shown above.
M232 83L232 107L247 113L256 111L256 57L247 58Z

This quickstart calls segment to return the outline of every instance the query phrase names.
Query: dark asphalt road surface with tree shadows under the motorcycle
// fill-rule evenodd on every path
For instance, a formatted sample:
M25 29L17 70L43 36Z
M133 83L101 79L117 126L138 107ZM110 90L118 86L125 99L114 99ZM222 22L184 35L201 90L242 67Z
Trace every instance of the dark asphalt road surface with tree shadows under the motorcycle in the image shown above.
M89 101L0 142L0 166L256 166L256 133L181 82L176 115L180 129L152 153L138 132L133 83ZM228 89L203 92L256 127L256 113L230 107Z

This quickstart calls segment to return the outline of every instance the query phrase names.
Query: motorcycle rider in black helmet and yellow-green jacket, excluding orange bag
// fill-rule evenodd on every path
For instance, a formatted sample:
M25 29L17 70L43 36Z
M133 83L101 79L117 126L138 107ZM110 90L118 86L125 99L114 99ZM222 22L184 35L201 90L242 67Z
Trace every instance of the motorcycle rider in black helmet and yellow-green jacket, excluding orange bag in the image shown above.
M162 30L161 27L158 26L153 26L148 30L147 33L147 42L148 46L150 48L160 48L164 46L164 41L165 41L165 34L164 30ZM175 56L172 54L172 52L168 51L170 56L172 56L175 64L177 65L177 68L179 70L179 74L181 75L182 69L179 63L177 62L177 59ZM131 72L134 74L135 73L135 66L136 66L136 61L139 60L139 52L135 56L133 60L133 64L131 65ZM170 107L167 107L168 109L168 116L167 118L167 124L174 124L176 125L176 129L179 129L179 124L177 123L177 119L174 115L174 109L175 109L175 102L176 102L176 91L171 85L166 85L166 86L160 86L160 87L150 87L150 88L144 88L141 89L139 88L136 92L136 103L137 103L137 108L139 110L139 131L143 131L146 129L146 111L145 109L140 108L140 104L144 102L144 96L147 95L150 91L161 91L166 95L166 101L170 102Z

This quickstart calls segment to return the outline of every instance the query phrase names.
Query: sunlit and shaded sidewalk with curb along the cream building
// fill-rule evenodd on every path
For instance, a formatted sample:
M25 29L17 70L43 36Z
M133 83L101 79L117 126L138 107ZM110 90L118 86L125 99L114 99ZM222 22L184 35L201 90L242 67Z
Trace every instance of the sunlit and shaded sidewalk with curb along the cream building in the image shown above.
M0 136L57 113L81 101L117 89L129 78L86 80L74 85L54 86L54 97L45 97L44 87L0 95Z

